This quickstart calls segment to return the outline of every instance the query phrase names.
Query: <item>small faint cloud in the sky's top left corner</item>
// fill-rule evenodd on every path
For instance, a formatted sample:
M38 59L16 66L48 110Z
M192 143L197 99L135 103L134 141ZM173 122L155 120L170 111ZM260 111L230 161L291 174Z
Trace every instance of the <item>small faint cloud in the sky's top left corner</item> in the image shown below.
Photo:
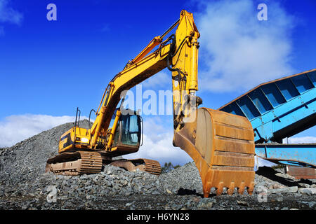
M23 15L10 6L9 0L0 0L0 22L20 25Z

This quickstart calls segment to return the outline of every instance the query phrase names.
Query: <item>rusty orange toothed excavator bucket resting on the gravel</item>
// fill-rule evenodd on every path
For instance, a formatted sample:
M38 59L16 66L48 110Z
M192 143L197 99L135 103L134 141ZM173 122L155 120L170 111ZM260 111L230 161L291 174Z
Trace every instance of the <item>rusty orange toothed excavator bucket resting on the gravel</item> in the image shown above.
M254 190L254 131L249 120L223 111L200 108L195 122L185 123L174 134L174 144L195 161L203 183L204 197L211 188L216 195L235 188L249 195Z

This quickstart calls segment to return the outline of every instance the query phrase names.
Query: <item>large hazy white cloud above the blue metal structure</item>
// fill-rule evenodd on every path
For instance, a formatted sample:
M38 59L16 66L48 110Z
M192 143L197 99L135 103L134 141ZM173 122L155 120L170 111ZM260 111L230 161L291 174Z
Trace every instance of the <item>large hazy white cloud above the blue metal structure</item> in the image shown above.
M295 73L289 64L294 18L278 3L267 3L267 21L257 19L260 10L250 0L201 4L203 12L195 13L201 90L240 92Z

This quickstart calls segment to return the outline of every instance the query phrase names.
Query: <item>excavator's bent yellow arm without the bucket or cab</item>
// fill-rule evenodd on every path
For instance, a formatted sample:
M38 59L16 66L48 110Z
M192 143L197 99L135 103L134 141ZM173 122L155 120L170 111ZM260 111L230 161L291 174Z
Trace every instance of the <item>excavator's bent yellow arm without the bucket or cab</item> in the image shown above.
M162 42L162 38L176 25L178 25L176 34ZM112 114L121 100L122 93L165 68L172 71L175 130L180 129L185 118L195 116L195 114L190 113L191 107L195 109L196 103L202 103L202 99L195 97L199 48L197 38L199 38L199 31L195 26L192 13L183 10L177 22L162 36L157 36L150 41L140 54L126 64L123 71L114 76L107 85L104 97L100 102L100 111L98 109L96 121L91 128L92 148L96 148L100 133L108 129ZM147 55L158 44L160 44L159 48Z

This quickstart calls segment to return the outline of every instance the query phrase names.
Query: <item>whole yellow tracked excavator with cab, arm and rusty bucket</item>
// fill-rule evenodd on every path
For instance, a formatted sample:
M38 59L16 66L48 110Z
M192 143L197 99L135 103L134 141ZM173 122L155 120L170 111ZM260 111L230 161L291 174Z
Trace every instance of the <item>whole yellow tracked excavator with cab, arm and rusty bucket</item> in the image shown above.
M175 34L165 38L176 27ZM142 118L137 111L122 106L126 91L168 68L173 87L173 146L180 147L194 160L204 197L209 197L211 188L216 189L217 195L223 193L223 188L227 188L228 195L235 188L239 194L244 190L251 194L255 175L251 123L242 116L198 108L202 104L196 95L199 36L192 13L182 10L178 21L162 36L154 37L112 78L89 129L79 127L77 109L74 127L60 137L59 154L48 159L46 172L93 174L101 172L105 165L116 165L159 175L161 167L157 161L112 158L136 153L143 141Z

